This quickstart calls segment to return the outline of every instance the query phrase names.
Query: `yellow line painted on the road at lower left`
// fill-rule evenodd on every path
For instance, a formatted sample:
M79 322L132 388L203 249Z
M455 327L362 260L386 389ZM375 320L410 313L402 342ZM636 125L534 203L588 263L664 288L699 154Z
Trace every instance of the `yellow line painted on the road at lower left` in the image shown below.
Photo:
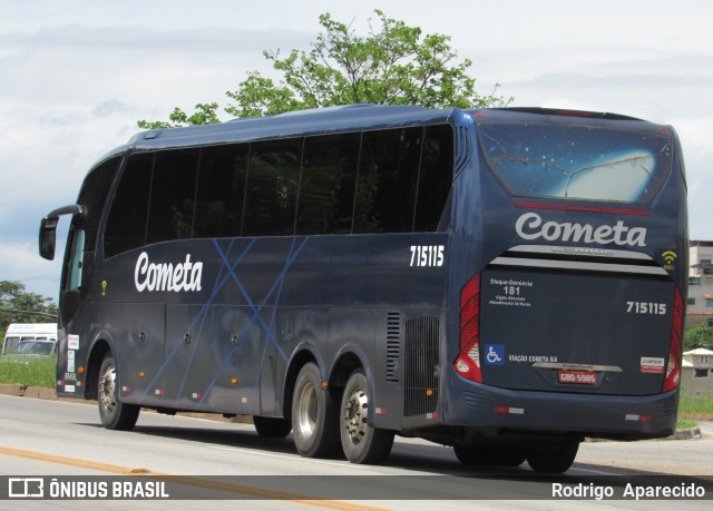
M279 490L266 490L264 488L248 487L244 484L232 484L219 481L211 481L209 479L199 479L186 475L174 475L164 472L152 472L148 469L130 468L102 463L91 460L81 460L78 458L60 456L57 454L48 454L43 452L27 451L23 449L12 449L0 445L0 454L16 458L25 458L28 460L43 461L47 463L57 463L68 466L77 466L80 469L90 469L98 472L108 472L113 474L130 475L130 476L169 476L172 481L196 488L206 488L228 493L238 493L242 495L257 497L267 500L282 500L285 502L311 505L314 508L334 509L340 511L388 511L385 508L377 508L367 504L356 504L351 502L342 502L339 500L320 499L312 495L300 493L283 492Z

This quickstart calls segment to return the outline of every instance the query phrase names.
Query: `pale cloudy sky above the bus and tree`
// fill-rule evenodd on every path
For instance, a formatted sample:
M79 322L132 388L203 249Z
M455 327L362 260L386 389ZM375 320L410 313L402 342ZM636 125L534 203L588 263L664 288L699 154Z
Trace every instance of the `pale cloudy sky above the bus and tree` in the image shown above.
M710 0L0 0L0 281L57 299L64 229L50 263L37 255L39 222L75 203L138 119L226 106L247 72L271 73L263 50L309 49L324 12L365 35L374 9L450 36L478 90L500 83L511 106L672 125L691 238L713 239Z

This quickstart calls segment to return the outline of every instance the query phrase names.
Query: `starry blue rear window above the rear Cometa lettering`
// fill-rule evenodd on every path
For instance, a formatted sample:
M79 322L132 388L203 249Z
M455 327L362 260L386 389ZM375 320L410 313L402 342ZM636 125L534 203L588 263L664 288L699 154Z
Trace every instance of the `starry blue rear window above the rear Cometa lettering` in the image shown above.
M478 126L486 161L514 196L648 204L671 171L671 138L588 126Z

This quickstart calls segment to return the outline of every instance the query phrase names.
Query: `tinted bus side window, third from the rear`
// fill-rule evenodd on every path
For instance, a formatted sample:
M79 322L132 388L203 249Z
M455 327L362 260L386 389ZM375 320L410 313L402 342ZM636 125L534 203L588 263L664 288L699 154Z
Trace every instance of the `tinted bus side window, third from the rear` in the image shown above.
M350 234L360 134L305 139L296 234Z

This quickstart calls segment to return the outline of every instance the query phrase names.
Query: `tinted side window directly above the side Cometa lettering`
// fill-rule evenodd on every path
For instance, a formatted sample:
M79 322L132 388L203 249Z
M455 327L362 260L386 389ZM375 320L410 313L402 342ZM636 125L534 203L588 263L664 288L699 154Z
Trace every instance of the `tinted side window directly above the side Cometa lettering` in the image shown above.
M191 238L199 149L156 153L146 244Z

